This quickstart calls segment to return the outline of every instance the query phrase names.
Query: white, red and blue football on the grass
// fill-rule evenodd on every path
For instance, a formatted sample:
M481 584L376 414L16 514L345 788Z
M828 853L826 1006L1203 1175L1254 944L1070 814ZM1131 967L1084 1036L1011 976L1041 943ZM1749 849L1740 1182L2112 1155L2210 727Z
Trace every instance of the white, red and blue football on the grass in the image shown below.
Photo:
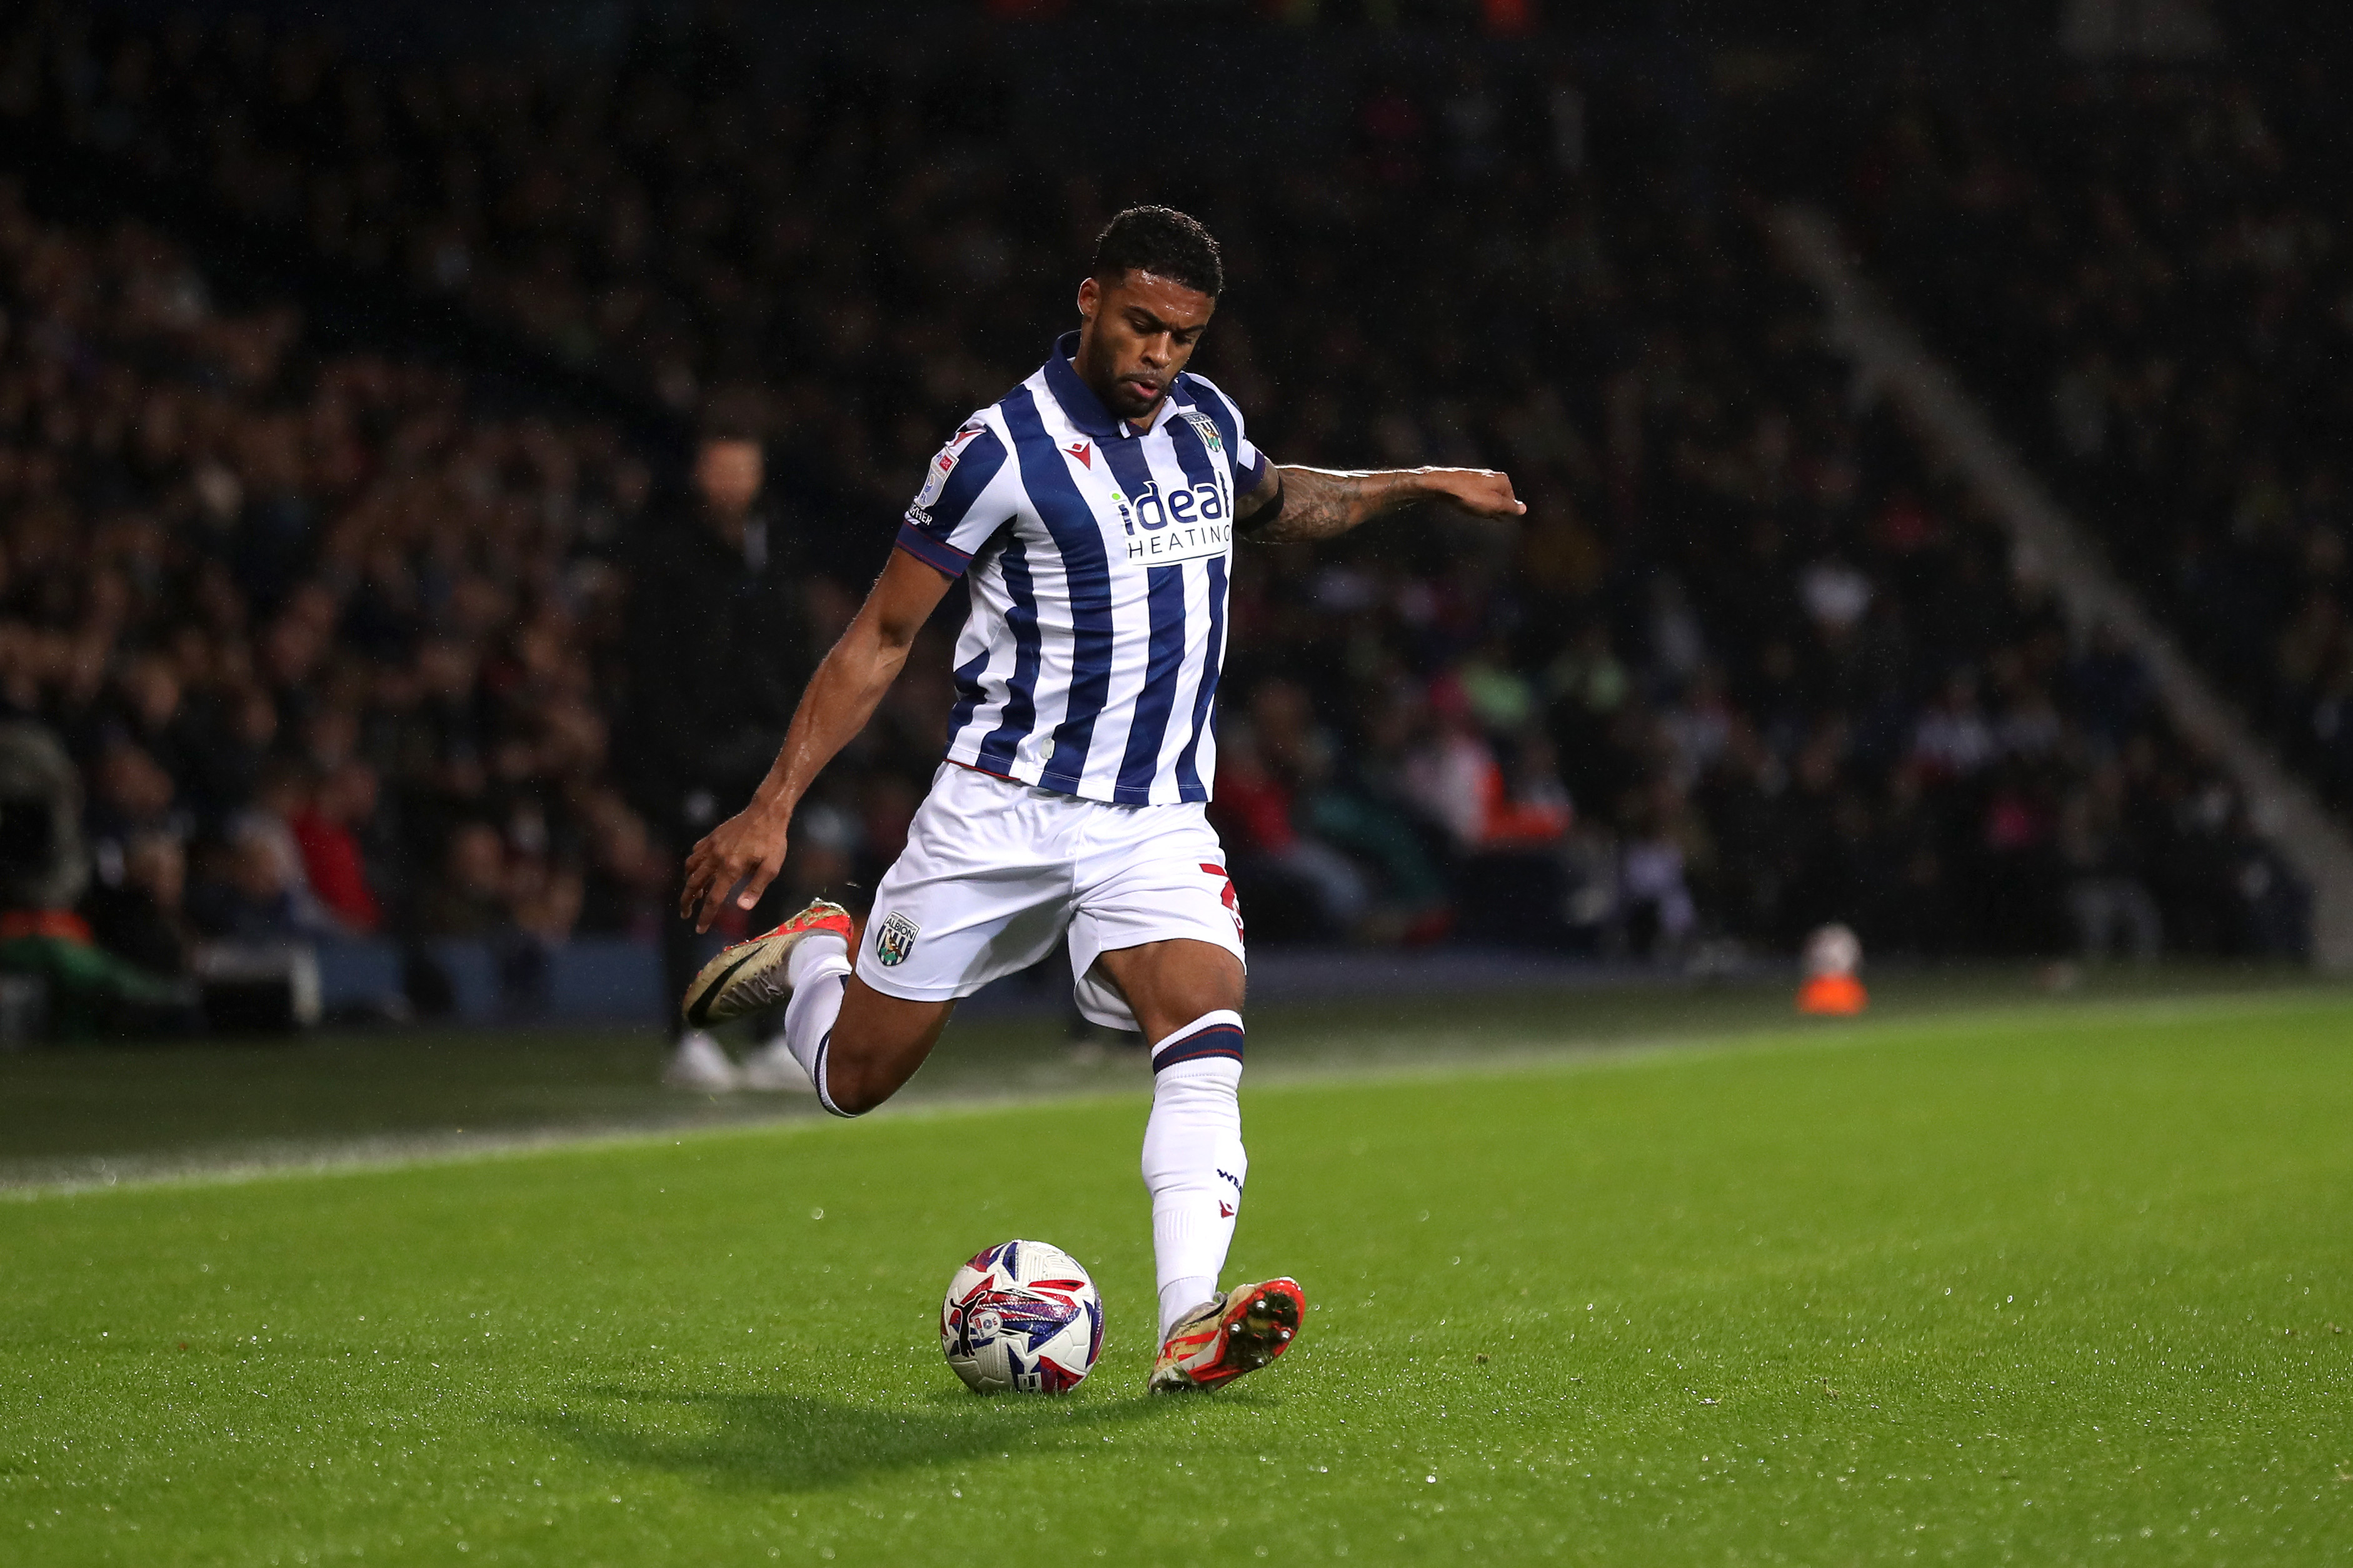
M1059 1246L1002 1241L948 1281L939 1349L976 1394L1068 1394L1104 1354L1104 1298Z

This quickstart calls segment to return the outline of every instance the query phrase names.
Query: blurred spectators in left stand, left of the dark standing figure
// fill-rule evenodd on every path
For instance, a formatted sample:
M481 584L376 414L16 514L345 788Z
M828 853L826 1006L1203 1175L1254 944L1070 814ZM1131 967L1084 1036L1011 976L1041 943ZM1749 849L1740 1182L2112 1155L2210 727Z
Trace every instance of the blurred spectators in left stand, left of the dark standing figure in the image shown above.
M0 188L0 710L80 764L101 940L649 933L598 658L616 433L318 355Z

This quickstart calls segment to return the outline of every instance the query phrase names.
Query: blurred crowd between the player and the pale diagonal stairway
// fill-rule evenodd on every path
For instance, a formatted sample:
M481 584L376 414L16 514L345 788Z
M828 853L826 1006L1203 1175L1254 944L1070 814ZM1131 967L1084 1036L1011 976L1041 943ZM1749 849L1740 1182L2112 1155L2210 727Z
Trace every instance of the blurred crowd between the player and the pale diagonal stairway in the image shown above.
M1591 223L1598 303L1527 343L1572 374L1466 364L1459 423L1384 454L1508 465L1527 527L1238 578L1233 783L1266 759L1292 792L1264 818L1395 893L1367 823L1419 813L1449 872L1421 886L1489 940L1786 952L1845 919L1878 952L2297 950L2301 891L2134 654L2071 635L1925 473L1748 223Z

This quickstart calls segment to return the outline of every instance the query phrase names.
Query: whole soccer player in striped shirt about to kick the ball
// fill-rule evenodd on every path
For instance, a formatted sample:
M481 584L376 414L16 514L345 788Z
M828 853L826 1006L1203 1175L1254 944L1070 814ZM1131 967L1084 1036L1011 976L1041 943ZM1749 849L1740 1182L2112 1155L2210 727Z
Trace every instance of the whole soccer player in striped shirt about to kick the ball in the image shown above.
M680 903L708 929L729 893L760 900L793 806L967 578L946 762L864 931L812 903L711 959L682 1006L701 1027L791 997L786 1046L824 1107L856 1117L913 1077L958 997L1068 936L1080 1011L1151 1041L1155 1392L1266 1366L1306 1307L1292 1279L1217 1288L1247 1173L1242 912L1205 818L1233 541L1332 538L1428 496L1527 510L1482 468L1271 463L1233 400L1186 371L1221 287L1217 242L1186 214L1132 207L1104 228L1078 331L932 458L776 764L694 846Z

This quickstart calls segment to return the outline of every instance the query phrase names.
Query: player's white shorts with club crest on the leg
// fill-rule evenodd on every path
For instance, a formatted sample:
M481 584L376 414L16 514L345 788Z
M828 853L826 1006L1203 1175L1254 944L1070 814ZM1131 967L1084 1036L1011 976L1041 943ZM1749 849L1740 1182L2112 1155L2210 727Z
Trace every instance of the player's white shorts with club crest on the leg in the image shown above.
M1078 1011L1136 1016L1104 952L1193 938L1242 957L1242 910L1200 804L1111 806L939 764L882 875L859 978L885 997L948 1001L1019 973L1071 933Z

